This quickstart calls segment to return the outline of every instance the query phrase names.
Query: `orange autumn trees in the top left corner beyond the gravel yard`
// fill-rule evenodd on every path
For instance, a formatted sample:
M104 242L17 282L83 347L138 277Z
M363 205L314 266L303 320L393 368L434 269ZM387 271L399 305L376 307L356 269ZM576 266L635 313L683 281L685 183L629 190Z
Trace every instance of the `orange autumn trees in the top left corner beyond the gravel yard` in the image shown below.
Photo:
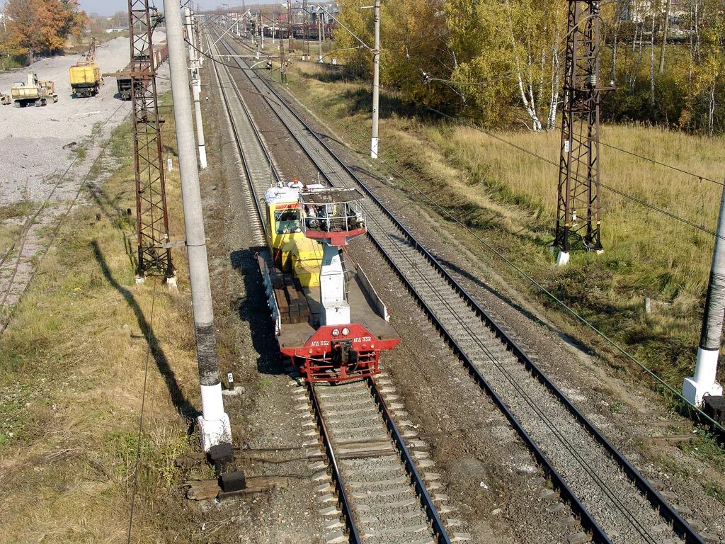
M80 38L88 24L78 0L8 0L1 8L3 69L9 61L28 65L62 51L67 39Z

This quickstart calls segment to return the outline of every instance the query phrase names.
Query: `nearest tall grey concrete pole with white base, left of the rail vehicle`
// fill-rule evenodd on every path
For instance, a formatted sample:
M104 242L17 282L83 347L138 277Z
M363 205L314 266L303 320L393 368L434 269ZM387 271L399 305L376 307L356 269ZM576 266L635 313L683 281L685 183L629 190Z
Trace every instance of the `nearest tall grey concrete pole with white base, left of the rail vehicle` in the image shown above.
M199 432L204 451L209 454L212 461L225 464L233 458L231 425L229 416L224 412L222 384L219 378L202 194L199 189L199 170L194 157L194 123L191 119L191 96L188 91L186 54L178 0L164 0L164 11L186 227L188 271L191 280L191 302L194 308L196 359L199 363L199 381L202 386L203 415L199 417Z

